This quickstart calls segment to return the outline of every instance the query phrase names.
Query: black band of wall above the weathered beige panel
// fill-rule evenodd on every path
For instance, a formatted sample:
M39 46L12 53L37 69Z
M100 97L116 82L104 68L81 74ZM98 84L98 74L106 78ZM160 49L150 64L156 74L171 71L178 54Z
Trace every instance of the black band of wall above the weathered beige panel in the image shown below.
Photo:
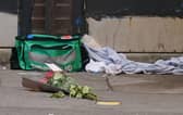
M87 16L183 16L183 0L86 0Z

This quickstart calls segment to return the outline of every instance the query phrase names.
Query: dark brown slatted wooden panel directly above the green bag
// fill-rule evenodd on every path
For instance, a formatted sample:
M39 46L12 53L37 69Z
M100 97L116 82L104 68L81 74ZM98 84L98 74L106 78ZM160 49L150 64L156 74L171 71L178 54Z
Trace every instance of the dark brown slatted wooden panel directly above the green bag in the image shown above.
M82 0L34 0L30 33L51 35L77 34L77 28L81 25L76 23L83 21L78 21L82 17Z

